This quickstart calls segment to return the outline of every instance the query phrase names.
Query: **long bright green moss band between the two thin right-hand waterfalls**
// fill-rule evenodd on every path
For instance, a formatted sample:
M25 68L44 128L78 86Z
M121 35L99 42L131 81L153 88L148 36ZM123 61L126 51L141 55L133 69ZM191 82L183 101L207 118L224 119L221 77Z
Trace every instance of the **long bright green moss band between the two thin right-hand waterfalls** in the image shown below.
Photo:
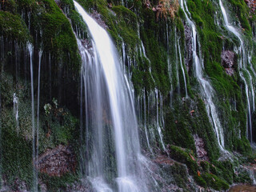
M239 1L239 3L245 4L243 1ZM214 103L217 106L218 116L224 130L225 147L230 150L238 149L242 154L246 154L248 152L244 147L246 146L246 141L238 138L239 132L242 133L242 136L246 135L246 110L242 101L241 90L238 86L238 74L235 73L233 77L230 77L226 75L221 66L223 43L226 43L227 46L230 46L230 44L234 46L234 44L222 38L221 31L214 23L212 18L217 10L213 2L190 0L187 5L197 26L204 69L214 90L216 90ZM194 80L194 78L190 78L192 86L197 85ZM233 104L230 99L236 101L236 109L232 109L231 105Z

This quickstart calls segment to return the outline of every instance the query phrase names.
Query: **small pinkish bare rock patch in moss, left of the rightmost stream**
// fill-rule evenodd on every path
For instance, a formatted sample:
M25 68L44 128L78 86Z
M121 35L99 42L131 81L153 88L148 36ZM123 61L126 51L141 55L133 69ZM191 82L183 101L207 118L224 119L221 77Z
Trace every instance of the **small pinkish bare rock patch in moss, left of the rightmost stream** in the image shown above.
M230 50L222 51L222 66L226 70L226 74L234 74L234 52Z

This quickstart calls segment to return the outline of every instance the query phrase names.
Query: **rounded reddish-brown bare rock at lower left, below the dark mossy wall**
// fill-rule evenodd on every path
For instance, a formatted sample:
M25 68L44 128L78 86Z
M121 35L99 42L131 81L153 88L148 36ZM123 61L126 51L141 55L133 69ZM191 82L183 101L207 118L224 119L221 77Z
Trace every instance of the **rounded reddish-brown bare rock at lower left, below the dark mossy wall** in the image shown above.
M41 173L60 177L68 172L74 172L76 164L75 154L70 146L59 145L40 155L37 168Z

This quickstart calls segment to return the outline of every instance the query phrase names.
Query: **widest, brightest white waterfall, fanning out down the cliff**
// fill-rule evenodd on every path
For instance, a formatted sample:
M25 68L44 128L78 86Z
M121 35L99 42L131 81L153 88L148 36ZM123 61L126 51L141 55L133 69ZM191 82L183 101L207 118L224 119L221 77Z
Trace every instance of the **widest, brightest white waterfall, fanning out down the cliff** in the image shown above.
M86 147L82 167L96 191L147 191L133 94L109 34L74 6L88 26L90 45L77 38L82 56L81 117ZM115 171L116 170L116 171Z

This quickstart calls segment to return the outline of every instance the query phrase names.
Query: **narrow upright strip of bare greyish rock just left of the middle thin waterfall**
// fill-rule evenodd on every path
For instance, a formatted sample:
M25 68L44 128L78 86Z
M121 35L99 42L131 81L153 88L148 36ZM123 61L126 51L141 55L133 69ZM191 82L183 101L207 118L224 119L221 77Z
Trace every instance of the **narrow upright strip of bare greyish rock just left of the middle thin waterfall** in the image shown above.
M190 66L193 58L193 49L192 49L192 31L189 26L184 26L185 39L186 39L186 70L189 72Z

